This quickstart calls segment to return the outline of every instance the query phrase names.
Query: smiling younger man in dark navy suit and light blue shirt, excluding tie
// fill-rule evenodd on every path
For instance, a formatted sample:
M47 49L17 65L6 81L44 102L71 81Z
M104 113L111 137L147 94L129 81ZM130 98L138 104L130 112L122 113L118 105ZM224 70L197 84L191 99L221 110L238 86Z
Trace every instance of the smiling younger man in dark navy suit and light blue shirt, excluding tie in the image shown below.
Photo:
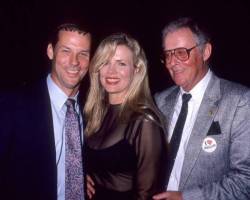
M69 98L78 102L74 109L79 117L82 145L78 93L88 71L90 47L88 29L76 24L60 25L47 47L51 73L2 102L0 199L67 199L65 102Z

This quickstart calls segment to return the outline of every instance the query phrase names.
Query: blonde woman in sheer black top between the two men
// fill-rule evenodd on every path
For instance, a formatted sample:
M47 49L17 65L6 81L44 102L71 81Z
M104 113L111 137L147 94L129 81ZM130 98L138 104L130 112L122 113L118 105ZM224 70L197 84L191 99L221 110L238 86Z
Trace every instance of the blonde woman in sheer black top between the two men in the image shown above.
M152 199L165 187L167 146L144 51L130 36L113 34L100 43L89 72L86 165L93 199Z

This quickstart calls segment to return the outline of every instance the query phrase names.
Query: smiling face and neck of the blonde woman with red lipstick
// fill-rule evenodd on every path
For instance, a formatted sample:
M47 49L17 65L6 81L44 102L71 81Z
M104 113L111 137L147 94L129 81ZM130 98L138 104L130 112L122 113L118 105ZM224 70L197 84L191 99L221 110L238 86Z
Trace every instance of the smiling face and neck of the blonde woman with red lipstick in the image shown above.
M100 69L100 81L108 93L110 104L123 102L135 70L132 51L125 45L118 45L114 56Z

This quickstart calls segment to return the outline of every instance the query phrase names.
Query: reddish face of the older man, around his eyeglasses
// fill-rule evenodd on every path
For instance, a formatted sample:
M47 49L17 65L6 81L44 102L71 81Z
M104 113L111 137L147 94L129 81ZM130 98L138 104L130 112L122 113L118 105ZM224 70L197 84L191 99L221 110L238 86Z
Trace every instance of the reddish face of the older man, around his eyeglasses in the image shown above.
M190 49L197 44L195 37L190 29L180 28L174 32L170 32L164 39L164 51L176 48ZM205 61L210 57L211 45L204 44L204 49L200 46L190 51L189 59L180 61L175 55L168 63L165 63L173 81L176 85L182 87L185 91L190 91L206 74L207 67Z

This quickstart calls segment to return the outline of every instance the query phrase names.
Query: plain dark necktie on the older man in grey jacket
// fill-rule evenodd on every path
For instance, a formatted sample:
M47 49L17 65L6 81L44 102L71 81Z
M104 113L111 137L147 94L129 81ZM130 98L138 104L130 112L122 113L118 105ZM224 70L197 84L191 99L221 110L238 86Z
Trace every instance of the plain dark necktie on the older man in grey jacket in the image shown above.
M188 113L188 101L191 99L191 94L183 94L182 95L182 105L181 105L181 112L178 116L177 122L174 127L174 131L170 140L170 154L169 154L169 175L172 171L174 166L176 154L179 149L181 136L183 132L183 127L186 121L187 113Z

